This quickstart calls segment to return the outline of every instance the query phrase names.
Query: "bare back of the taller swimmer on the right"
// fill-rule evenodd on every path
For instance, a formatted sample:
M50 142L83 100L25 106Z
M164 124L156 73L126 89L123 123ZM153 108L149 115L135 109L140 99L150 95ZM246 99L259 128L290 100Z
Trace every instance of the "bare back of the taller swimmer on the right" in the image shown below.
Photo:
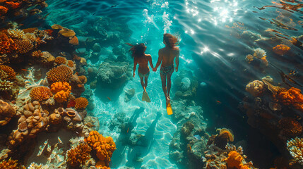
M159 50L159 55L162 57L161 66L170 66L174 64L174 58L179 56L179 48L170 49L168 47Z

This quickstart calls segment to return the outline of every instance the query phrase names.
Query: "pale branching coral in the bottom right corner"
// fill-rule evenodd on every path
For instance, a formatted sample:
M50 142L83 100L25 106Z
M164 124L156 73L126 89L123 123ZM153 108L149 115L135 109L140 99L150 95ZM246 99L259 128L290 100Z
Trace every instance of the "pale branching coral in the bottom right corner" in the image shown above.
M287 150L290 151L293 161L303 165L303 139L295 137L287 141Z

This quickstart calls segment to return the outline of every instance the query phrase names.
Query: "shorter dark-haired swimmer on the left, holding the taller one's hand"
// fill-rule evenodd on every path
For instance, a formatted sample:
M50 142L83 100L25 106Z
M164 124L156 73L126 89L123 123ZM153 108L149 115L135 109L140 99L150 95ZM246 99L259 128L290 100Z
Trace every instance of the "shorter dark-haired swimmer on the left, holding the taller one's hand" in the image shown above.
M150 63L150 67L153 68L153 62L150 54L145 54L146 46L145 44L128 44L131 46L129 51L131 52L131 56L133 57L133 77L135 77L135 72L137 68L137 64L139 64L138 75L141 80L141 85L143 87L143 96L142 101L150 102L148 94L146 92L146 87L148 86L148 75L150 75L150 68L148 68L148 62Z

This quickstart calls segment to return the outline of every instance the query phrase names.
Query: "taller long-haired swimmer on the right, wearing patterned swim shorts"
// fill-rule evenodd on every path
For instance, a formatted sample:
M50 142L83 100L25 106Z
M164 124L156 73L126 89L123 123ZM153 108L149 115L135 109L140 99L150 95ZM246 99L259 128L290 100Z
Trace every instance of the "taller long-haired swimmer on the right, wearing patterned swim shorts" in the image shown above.
M177 47L178 39L170 34L163 35L163 43L165 48L159 50L158 62L153 68L153 71L157 71L157 68L161 64L160 77L162 81L162 89L165 94L166 106L170 105L170 88L172 86L172 73L174 72L174 58L176 58L176 72L179 67L179 48ZM166 83L167 80L167 83Z

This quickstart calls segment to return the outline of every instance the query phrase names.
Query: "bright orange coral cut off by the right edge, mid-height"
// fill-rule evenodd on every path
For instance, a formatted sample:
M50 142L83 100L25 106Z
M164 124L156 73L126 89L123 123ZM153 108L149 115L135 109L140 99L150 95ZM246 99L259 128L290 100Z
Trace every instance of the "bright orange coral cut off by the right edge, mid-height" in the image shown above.
M283 90L276 94L275 98L286 106L292 105L299 111L303 111L303 94L300 89L292 87L288 90Z

